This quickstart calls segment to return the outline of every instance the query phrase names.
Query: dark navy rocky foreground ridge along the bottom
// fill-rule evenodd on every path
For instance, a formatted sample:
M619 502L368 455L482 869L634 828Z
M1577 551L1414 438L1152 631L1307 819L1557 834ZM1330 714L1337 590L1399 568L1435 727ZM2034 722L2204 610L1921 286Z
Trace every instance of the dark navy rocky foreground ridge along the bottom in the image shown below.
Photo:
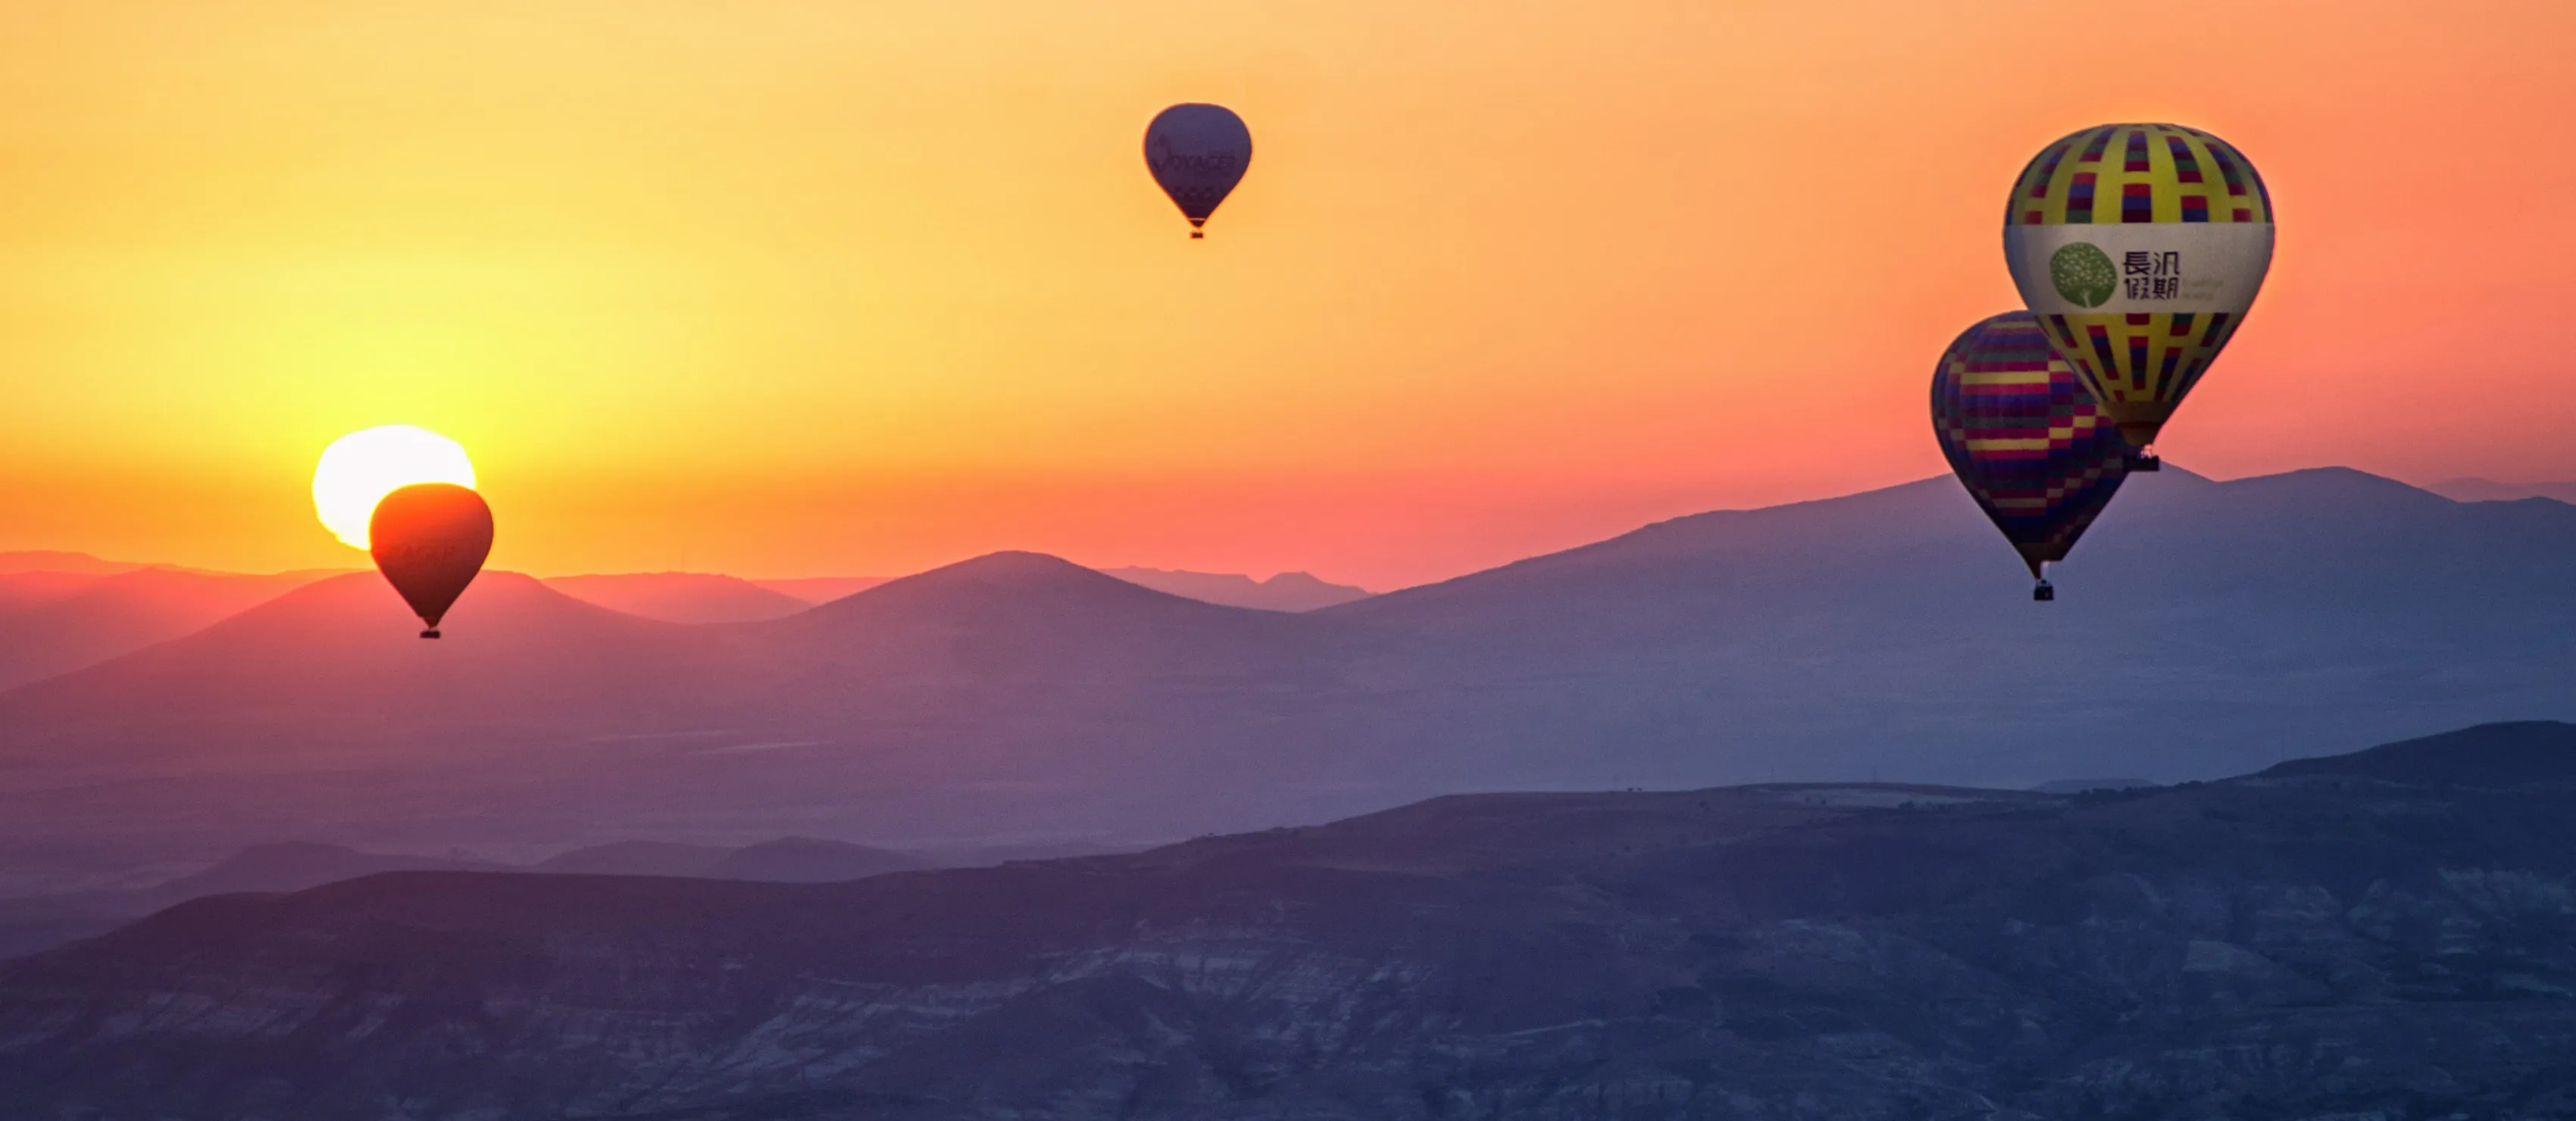
M64 1118L2548 1118L2576 727L1450 796L850 884L407 871L0 969Z

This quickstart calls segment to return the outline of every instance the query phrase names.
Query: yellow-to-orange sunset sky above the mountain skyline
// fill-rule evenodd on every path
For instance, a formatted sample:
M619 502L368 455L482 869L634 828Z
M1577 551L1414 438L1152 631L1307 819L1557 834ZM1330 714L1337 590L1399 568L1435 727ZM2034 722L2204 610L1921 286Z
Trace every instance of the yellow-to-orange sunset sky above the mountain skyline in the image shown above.
M2123 119L2282 211L2166 456L2576 477L2576 8L2136 10L0 0L0 549L361 564L312 461L415 423L536 572L1432 580L1937 472ZM1172 101L1257 144L1198 245Z

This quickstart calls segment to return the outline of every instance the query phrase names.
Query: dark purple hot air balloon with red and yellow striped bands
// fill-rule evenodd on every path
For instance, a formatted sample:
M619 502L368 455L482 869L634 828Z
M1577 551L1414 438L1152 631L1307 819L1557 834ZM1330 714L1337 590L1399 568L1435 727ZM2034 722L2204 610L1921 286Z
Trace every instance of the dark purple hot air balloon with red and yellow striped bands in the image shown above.
M1968 327L1932 366L1932 436L2030 564L2035 600L2058 598L2040 564L2066 559L2128 472L2128 441L2030 312Z

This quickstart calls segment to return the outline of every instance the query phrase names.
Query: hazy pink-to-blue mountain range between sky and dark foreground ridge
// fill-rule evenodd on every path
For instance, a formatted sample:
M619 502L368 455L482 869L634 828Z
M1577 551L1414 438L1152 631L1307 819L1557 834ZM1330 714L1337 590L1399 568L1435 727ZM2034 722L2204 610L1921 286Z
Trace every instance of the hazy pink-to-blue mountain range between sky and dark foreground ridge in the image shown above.
M67 853L211 861L278 822L518 863L1123 845L1476 789L2182 781L2576 716L2563 503L2166 469L2053 577L2030 603L1950 479L1303 613L994 554L701 626L492 572L422 644L335 577L0 693L0 866L62 889Z

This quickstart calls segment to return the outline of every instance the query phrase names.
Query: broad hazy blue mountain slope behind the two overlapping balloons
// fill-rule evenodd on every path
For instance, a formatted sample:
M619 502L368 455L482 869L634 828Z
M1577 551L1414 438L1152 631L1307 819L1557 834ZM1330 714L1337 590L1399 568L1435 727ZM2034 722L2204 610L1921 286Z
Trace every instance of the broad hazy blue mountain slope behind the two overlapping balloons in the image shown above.
M1623 763L1595 781L1690 783L1723 745L1736 778L2030 786L2576 714L2571 572L2561 503L2166 469L2130 479L2048 606L1960 487L1924 479L1316 616L1409 637L1394 665L1463 701L1430 724L1530 745L1510 783L1553 783L1566 755Z

